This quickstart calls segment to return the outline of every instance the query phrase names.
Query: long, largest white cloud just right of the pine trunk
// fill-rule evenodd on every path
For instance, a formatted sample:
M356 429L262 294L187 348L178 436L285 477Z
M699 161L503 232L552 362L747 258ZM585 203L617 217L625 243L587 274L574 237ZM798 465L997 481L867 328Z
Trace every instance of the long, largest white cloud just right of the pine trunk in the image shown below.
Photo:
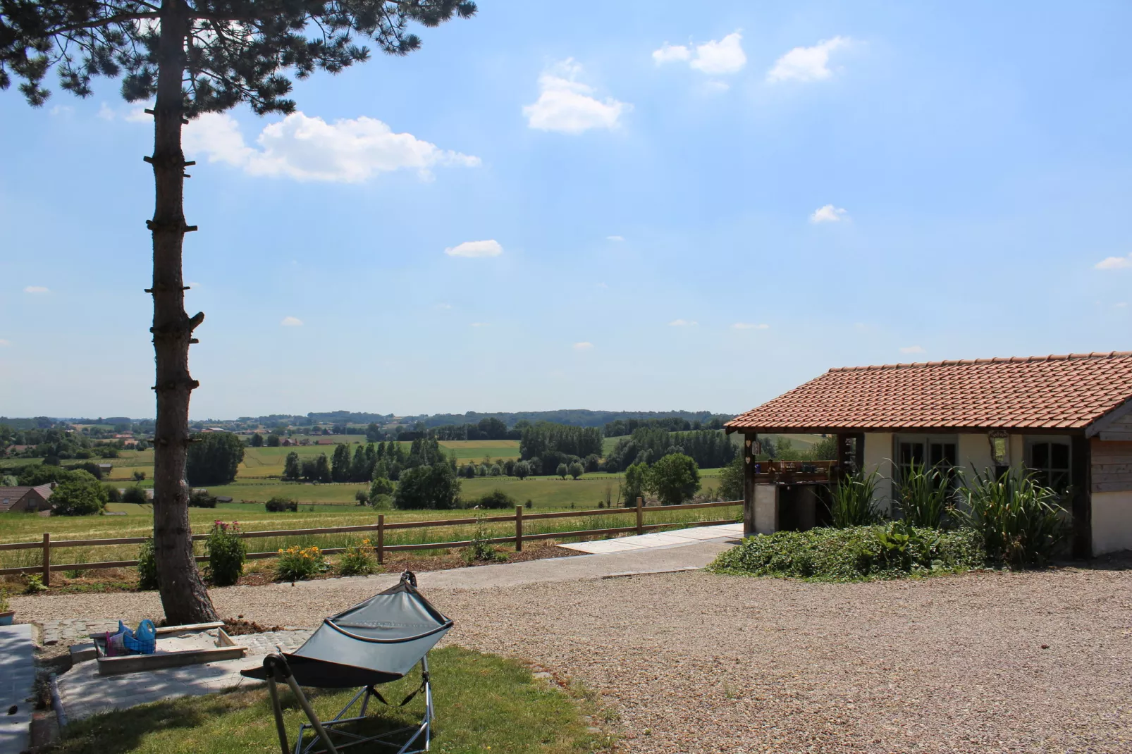
M205 113L185 128L187 153L206 154L208 162L225 162L249 175L360 183L404 168L415 169L427 180L437 165L480 164L479 157L440 149L412 134L394 134L386 123L366 117L327 123L293 112L265 126L256 144L245 144L240 125L225 113Z

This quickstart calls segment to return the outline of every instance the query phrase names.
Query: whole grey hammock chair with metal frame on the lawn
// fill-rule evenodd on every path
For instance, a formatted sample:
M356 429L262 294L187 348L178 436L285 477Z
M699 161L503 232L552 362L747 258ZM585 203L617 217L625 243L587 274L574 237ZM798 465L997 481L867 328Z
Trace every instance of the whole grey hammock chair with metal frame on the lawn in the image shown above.
M401 574L401 582L365 602L353 606L323 620L314 634L294 652L280 651L264 658L261 667L241 670L248 678L267 682L267 691L275 713L275 729L283 754L312 754L321 742L327 754L359 744L374 743L388 746L396 754L427 752L432 723L432 687L429 682L428 652L449 628L452 619L429 605L417 591L417 576L411 571ZM375 688L391 680L403 678L421 666L421 685L400 704L404 706L417 694L424 693L424 717L420 725L398 728L376 736L361 736L341 726L366 719L369 700L388 702ZM283 710L280 708L277 684L285 683L310 723L299 726L299 738L291 749ZM321 721L302 693L302 686L316 688L352 688L360 686L353 699L332 720ZM361 702L357 714L350 710ZM306 745L308 728L315 736ZM403 744L396 743L403 734L412 735Z

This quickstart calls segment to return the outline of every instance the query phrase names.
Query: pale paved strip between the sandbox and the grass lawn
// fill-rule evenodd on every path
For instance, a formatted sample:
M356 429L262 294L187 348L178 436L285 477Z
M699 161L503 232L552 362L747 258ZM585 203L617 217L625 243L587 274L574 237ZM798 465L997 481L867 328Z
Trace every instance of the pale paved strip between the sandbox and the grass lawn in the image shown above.
M100 712L126 710L178 696L200 696L237 687L254 688L263 682L245 678L240 670L263 663L264 657L274 652L276 646L286 652L298 649L310 634L309 631L276 631L233 636L232 641L248 648L248 653L238 660L147 672L102 676L98 675L97 661L87 660L59 676L59 701L70 722ZM12 749L14 753L18 751ZM0 749L0 754L8 753Z

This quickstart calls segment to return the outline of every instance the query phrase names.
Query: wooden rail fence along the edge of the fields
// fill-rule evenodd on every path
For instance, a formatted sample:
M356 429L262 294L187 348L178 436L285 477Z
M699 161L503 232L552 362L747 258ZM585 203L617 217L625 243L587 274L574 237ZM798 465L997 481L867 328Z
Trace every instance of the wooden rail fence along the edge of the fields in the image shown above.
M376 524L362 524L357 526L326 526L321 529L278 529L272 531L241 531L239 535L243 539L257 539L264 537L301 537L310 534L341 534L341 533L363 533L363 532L377 532L377 542L374 549L377 551L377 562L385 562L386 552L401 552L410 550L440 550L448 548L461 548L471 547L475 543L475 540L458 540L448 542L419 542L414 545L386 545L385 543L385 532L397 531L403 529L426 529L430 526L462 526L469 524L479 523L515 523L515 534L512 537L492 537L490 539L480 540L491 545L507 545L514 543L515 551L523 551L523 542L528 540L538 539L572 539L577 537L604 537L612 534L624 534L633 532L636 534L643 534L648 531L655 531L658 529L667 529L671 526L718 526L721 524L734 523L734 519L720 519L715 521L684 521L675 523L663 523L663 524L645 524L644 515L646 513L668 513L671 511L698 511L703 508L720 508L730 507L736 505L743 505L743 500L723 500L719 503L688 503L686 505L642 505L641 498L637 498L636 508L598 508L593 511L557 511L554 513L524 513L523 506L515 506L514 515L501 515L501 516L477 516L477 517L464 517L464 519L438 519L434 521L400 521L395 523L385 523L385 515L377 516ZM602 515L626 515L636 513L636 524L633 526L614 526L609 529L577 529L573 531L552 531L552 532L539 532L539 533L526 533L524 531L524 524L529 522L544 521L549 519L571 519L578 516L602 516ZM192 534L194 541L200 541L207 539L208 534ZM43 532L42 541L37 542L8 542L0 543L0 551L2 550L28 550L28 549L42 549L43 559L41 565L34 566L18 566L14 568L0 568L0 576L20 573L41 573L43 576L43 584L51 585L51 572L52 571L92 571L97 568L127 568L136 566L137 560L98 560L94 563L51 563L51 550L65 548L65 547L104 547L110 545L142 545L148 537L121 537L118 539L65 539L65 540L51 540L50 532ZM323 552L327 555L334 555L337 552L344 552L345 548L335 547L324 549ZM255 558L273 558L276 557L278 552L248 552L247 557L249 559ZM204 563L208 558L205 556L197 556L197 563Z

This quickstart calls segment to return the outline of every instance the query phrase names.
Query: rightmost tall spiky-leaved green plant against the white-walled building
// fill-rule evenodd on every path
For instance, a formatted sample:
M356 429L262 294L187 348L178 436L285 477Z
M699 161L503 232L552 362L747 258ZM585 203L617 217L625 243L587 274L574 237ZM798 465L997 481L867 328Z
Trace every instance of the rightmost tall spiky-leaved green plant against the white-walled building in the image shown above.
M1045 565L1069 531L1057 494L1028 473L984 472L963 496L960 519L983 537L988 557L1012 568Z

